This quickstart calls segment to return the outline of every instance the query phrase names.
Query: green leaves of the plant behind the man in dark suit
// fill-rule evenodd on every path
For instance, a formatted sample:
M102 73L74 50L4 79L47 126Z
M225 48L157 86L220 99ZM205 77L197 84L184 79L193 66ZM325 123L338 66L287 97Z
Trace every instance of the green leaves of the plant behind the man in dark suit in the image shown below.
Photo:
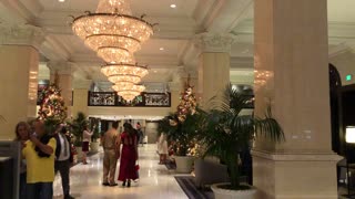
M71 129L72 129L72 134L75 137L75 142L74 142L75 146L81 146L82 134L83 134L85 125L89 125L89 121L87 119L85 114L83 114L82 112L79 112L77 117L70 124Z

